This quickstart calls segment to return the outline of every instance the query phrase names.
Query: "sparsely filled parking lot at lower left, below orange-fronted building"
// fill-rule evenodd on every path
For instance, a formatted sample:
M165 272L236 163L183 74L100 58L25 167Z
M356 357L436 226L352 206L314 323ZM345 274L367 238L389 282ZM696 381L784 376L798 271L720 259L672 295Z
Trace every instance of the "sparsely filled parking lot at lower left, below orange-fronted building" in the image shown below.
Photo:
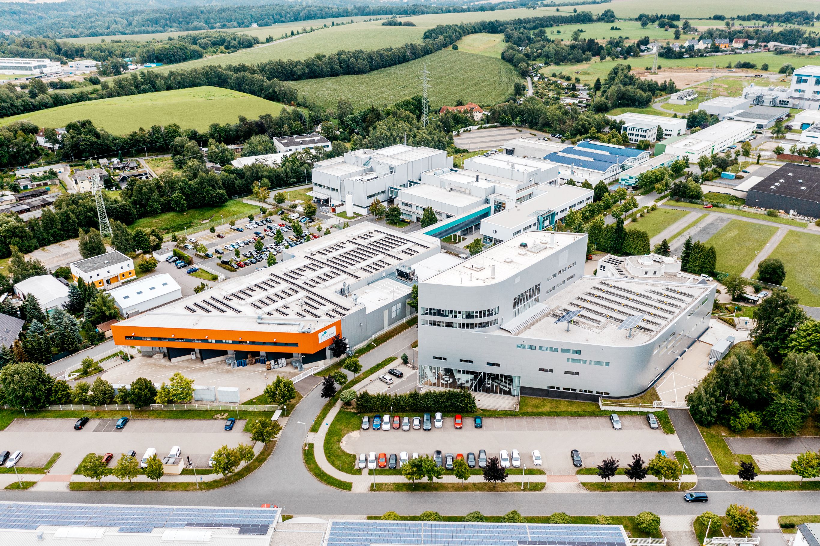
M124 412L127 416L128 412ZM74 430L75 419L16 419L0 431L0 449L20 449L20 466L43 466L53 453L62 453L51 473L73 474L88 453L113 453L114 466L122 453L134 449L141 458L148 448L157 456L167 455L180 446L183 457L191 457L194 466L206 468L211 453L228 445L249 444L244 433L245 421L236 421L233 430L225 430L222 419L131 419L125 428L116 429L116 419L92 419L83 430ZM43 460L43 457L45 460ZM39 464L38 464L39 463Z

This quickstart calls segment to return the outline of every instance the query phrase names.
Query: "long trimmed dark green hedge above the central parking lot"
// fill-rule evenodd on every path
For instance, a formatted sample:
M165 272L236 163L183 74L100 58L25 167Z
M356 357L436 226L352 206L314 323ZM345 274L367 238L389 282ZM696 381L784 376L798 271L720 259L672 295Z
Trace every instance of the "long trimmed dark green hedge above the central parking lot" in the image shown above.
M476 398L467 390L428 390L424 393L370 394L356 396L358 412L448 412L472 413L476 411Z

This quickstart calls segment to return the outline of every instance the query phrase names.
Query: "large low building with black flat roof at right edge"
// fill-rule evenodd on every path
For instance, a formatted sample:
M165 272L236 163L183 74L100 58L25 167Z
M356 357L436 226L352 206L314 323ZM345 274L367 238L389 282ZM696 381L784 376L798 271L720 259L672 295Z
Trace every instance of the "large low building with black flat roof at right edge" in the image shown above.
M749 188L746 204L820 218L820 169L786 163Z

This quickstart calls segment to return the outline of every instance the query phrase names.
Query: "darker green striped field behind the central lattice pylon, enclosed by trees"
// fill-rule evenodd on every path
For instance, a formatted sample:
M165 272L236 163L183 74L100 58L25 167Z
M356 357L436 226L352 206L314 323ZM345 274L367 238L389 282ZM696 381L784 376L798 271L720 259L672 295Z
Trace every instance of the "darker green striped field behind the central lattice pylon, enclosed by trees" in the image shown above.
M335 107L339 98L347 98L359 109L371 105L389 105L421 94L421 70L430 71L430 106L438 108L464 102L496 104L512 94L512 85L521 76L502 61L473 53L444 49L432 55L390 66L366 75L344 75L335 78L294 81L299 94L305 94L321 107Z

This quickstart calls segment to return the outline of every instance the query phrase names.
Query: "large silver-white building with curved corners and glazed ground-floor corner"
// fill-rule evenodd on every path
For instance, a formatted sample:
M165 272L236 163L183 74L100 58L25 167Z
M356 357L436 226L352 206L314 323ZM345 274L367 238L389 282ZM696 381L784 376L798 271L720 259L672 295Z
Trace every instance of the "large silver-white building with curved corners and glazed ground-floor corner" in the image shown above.
M521 234L419 283L421 387L586 400L651 387L708 329L717 285L583 276L587 237Z

